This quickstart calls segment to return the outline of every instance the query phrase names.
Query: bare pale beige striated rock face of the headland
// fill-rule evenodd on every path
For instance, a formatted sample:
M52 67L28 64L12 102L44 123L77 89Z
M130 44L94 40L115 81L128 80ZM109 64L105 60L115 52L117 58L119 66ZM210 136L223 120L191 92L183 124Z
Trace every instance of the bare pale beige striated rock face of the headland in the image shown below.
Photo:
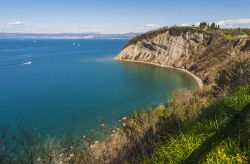
M208 44L209 39L210 36L206 34L187 32L183 36L172 36L167 31L153 39L126 47L116 59L184 67L193 53Z

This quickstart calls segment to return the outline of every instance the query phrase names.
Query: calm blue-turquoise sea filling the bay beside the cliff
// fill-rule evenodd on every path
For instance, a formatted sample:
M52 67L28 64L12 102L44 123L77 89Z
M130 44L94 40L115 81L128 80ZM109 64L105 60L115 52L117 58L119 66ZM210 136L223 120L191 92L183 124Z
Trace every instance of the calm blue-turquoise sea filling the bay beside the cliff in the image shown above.
M176 70L113 61L125 43L0 40L0 124L80 134L196 86Z

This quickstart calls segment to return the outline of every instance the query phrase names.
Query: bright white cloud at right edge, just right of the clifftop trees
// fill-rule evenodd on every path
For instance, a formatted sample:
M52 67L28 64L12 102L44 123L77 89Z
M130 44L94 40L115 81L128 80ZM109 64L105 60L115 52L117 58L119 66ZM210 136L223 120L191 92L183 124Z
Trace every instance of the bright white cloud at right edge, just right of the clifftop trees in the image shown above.
M250 19L221 20L215 23L222 28L250 28Z

